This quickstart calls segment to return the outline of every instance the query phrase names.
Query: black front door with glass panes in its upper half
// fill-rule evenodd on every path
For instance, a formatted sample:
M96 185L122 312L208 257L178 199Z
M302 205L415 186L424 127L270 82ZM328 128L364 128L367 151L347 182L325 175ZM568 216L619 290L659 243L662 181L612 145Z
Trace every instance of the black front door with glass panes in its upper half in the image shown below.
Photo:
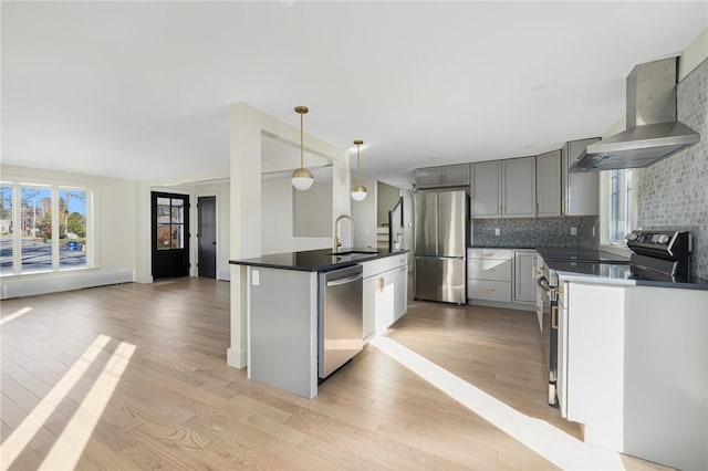
M189 196L152 192L153 280L189 275Z

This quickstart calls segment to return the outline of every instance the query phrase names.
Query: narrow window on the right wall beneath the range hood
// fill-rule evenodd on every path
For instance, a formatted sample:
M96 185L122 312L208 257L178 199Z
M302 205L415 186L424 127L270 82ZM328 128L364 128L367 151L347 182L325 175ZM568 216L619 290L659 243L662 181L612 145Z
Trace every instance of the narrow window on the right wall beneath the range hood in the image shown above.
M636 227L633 169L603 171L601 176L601 243L626 248L624 237Z

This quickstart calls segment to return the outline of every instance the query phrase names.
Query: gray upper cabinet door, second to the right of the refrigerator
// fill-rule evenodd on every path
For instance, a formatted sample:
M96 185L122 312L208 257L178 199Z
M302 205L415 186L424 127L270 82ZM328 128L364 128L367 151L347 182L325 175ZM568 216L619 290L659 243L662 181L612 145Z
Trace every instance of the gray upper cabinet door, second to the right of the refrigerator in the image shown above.
M501 216L535 216L535 157L502 160Z

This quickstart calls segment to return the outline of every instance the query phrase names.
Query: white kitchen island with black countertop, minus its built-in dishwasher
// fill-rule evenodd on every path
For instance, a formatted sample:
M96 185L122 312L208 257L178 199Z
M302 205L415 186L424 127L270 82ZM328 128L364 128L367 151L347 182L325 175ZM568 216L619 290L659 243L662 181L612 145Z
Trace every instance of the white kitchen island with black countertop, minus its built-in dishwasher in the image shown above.
M331 373L320 358L325 343L322 315L326 304L323 297L329 284L326 276L340 272L347 274L347 270L354 273L360 266L358 286L362 290L363 285L364 291L360 291L358 299L351 300L345 306L350 311L358 310L358 320L353 321L350 316L341 323L346 328L358 324L354 327L358 328L360 345L364 337L373 334L369 326L376 326L376 332L381 332L384 325L387 327L397 320L396 314L406 310L407 251L351 248L333 253L332 249L321 249L231 260L229 263L248 266L249 379L306 398L316 396L319 381ZM394 279L389 279L392 282L386 285L386 274L394 270L396 273L405 272L403 285L396 284ZM372 292L366 289L367 281L375 276L378 276L379 291ZM400 292L403 296L394 294ZM383 303L385 300L391 300L391 303ZM327 355L336 357L337 352L356 350L357 342L348 335L326 343Z

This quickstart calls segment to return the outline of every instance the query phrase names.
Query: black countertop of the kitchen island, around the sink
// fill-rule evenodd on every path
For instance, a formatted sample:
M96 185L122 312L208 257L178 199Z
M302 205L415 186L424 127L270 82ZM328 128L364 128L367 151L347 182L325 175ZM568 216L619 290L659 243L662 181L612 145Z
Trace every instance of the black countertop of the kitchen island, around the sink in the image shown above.
M296 270L304 272L327 272L331 270L353 266L360 262L367 262L385 257L407 253L407 250L362 249L362 248L340 248L336 254L332 249L304 250L301 252L272 253L268 255L254 257L252 259L229 260L230 264L261 266L268 269Z

